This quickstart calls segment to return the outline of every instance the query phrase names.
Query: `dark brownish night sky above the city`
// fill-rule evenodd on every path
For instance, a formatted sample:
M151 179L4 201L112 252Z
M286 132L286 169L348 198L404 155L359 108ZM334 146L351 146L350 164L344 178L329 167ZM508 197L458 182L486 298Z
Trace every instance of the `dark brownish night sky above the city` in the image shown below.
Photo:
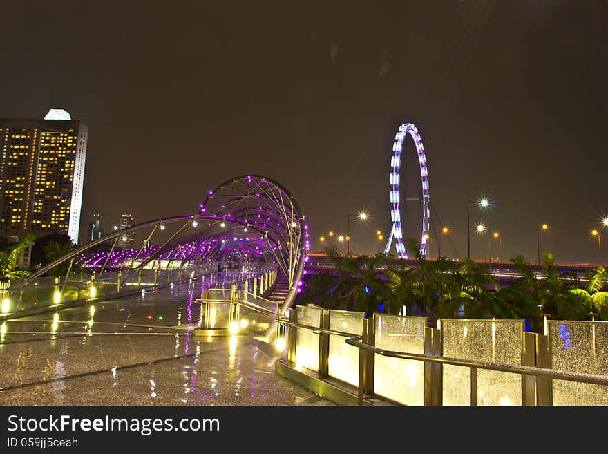
M89 127L81 230L94 211L109 225L193 214L220 182L261 173L294 193L313 249L367 209L351 231L369 252L371 232L390 229L395 131L413 122L461 257L466 202L488 196L471 221L500 231L503 258L535 261L546 222L542 249L598 261L604 1L8 0L0 42L0 117L65 108ZM416 172L401 172L413 192ZM471 239L482 258L487 237ZM445 239L442 252L454 253Z

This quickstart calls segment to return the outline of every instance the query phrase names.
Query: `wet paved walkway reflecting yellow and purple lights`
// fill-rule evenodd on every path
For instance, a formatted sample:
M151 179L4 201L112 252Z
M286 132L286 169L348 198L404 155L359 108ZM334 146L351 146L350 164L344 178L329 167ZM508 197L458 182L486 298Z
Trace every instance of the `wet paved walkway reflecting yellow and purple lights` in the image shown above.
M331 405L276 375L251 337L195 337L196 285L0 324L1 405ZM196 295L196 296L195 296ZM249 335L247 335L249 334Z

